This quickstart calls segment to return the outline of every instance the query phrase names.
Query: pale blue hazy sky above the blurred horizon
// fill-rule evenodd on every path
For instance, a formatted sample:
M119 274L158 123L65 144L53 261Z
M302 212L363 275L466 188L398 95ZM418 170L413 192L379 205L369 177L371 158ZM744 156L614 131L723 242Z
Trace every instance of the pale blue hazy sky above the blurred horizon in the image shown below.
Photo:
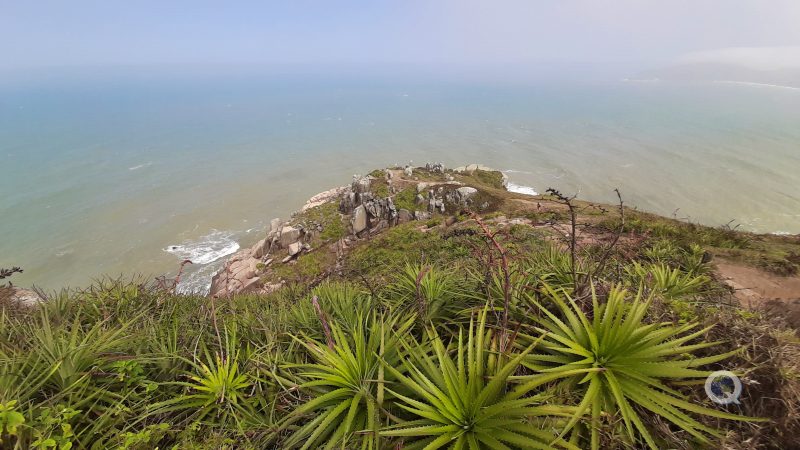
M786 46L800 46L800 0L0 0L2 69L162 63L649 65L690 52Z

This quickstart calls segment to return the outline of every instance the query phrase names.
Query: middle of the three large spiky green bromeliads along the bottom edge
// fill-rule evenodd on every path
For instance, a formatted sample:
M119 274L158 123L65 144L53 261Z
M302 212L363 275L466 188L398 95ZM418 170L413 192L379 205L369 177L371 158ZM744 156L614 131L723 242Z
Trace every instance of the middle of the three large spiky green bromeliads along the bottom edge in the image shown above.
M403 370L386 364L399 381L389 391L409 420L385 428L382 436L403 439L405 449L574 448L554 428L574 408L543 403L549 394L536 389L544 381L510 382L536 344L499 355L486 316L484 311L477 323L470 321L466 342L459 332L452 352L431 330L429 342L404 345Z

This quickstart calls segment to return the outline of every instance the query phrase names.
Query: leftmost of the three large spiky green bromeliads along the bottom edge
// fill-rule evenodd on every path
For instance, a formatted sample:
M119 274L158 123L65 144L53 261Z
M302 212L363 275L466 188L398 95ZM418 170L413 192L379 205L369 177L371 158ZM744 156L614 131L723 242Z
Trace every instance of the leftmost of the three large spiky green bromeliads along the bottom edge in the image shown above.
M391 381L381 360L398 364L397 336L408 332L413 318L401 322L373 313L354 325L331 323L329 342L297 338L315 362L296 366L299 388L310 398L281 425L294 427L283 448L376 447L384 385Z

